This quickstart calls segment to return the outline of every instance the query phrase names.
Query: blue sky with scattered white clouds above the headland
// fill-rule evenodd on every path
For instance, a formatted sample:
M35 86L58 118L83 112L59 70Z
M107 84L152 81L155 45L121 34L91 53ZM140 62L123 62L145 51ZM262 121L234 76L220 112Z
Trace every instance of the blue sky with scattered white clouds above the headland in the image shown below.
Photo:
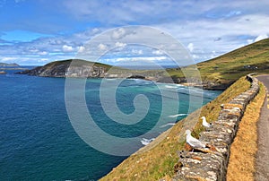
M201 62L268 38L268 7L268 0L0 0L0 62L44 65L73 58L88 40L127 25L168 32ZM100 62L128 56L169 64L158 49L124 47Z

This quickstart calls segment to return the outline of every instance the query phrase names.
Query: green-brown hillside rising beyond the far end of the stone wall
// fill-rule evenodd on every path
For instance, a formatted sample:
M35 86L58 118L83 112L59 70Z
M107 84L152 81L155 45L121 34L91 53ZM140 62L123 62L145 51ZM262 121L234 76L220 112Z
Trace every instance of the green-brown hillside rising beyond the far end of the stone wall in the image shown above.
M251 65L244 68L244 65ZM257 69L255 68L257 67ZM263 39L228 54L197 64L204 82L234 82L247 73L269 71L269 39ZM169 69L172 76L183 77L176 69Z

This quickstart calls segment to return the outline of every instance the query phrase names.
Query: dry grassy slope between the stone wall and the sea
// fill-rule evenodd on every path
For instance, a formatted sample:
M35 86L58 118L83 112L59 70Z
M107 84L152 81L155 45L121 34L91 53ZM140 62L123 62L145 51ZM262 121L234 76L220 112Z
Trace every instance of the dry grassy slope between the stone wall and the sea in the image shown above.
M114 168L106 177L100 180L158 180L160 178L173 177L173 166L178 161L177 151L182 150L185 143L185 138L179 137L181 130L186 129L188 125L193 124L193 134L198 134L202 129L201 120L197 122L197 117L207 116L209 120L216 120L221 110L220 105L227 103L230 99L239 95L239 93L247 90L250 83L245 78L239 79L227 90L225 90L217 99L214 99L200 110L187 116L183 121L174 125L168 134L162 134L164 139L158 142L158 138L148 146L155 147L152 150L145 151L140 154L131 155L124 160L117 168ZM161 139L159 137L159 139Z

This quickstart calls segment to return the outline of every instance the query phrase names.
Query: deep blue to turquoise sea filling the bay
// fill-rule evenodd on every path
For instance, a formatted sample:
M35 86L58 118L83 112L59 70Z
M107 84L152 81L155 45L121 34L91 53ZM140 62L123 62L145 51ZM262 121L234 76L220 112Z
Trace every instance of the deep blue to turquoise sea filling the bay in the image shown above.
M64 78L35 77L13 72L0 75L0 180L97 180L126 159L124 156L109 155L92 148L74 131L65 108ZM117 80L108 82L113 81ZM189 112L201 107L198 103L195 106L194 99L193 106L189 108L189 92L201 93L203 90L126 80L116 90L117 108L126 115L132 114L135 111L134 98L142 94L148 99L150 107L140 122L134 125L120 124L107 115L110 109L115 111L115 107L108 107L107 112L102 108L101 82L102 79L86 80L86 106L96 125L104 132L120 138L137 137L134 142L128 142L133 146L126 147L122 144L118 148L121 150L136 151L143 147L141 141L158 136ZM105 91L109 90L108 83ZM74 101L76 91L74 88L69 92L74 93ZM163 92L172 93L163 97ZM175 92L179 100L174 98ZM220 93L221 91L204 90L203 104ZM175 110L173 107L178 101L179 108ZM162 108L163 102L169 102L165 111ZM138 108L143 105L136 106ZM152 130L155 125L158 125L157 128ZM109 147L116 145L114 142L109 144L102 146L109 151Z

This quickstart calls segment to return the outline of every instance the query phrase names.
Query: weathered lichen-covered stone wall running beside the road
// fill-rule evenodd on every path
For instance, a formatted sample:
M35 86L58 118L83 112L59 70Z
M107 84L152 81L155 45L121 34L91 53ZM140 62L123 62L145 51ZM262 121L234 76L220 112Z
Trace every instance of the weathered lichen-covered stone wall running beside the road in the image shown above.
M200 134L200 141L213 145L210 149L201 151L180 151L179 160L175 166L176 180L226 180L230 145L233 142L239 122L250 100L259 91L258 80L247 75L251 82L249 90L241 93L228 104L221 105L221 112L211 130Z

